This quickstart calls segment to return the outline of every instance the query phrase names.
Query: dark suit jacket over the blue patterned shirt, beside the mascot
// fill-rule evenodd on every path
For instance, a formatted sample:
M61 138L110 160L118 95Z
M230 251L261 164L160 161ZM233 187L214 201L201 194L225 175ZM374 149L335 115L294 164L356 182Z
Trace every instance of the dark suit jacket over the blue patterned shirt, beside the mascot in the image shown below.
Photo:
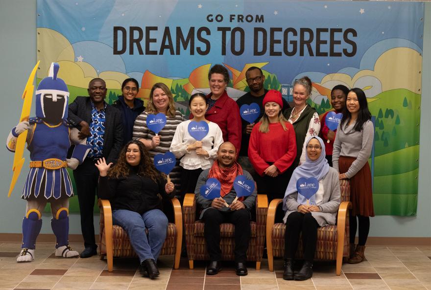
M103 138L103 157L106 163L117 161L123 142L123 123L120 110L110 105L105 109L105 136ZM76 97L69 105L68 121L73 127L81 129L81 121L91 123L90 97Z

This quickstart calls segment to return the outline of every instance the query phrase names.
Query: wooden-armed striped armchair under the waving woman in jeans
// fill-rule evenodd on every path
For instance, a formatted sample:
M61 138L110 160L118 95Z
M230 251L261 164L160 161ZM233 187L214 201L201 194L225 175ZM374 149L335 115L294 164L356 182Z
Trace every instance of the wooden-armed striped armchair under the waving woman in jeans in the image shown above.
M175 223L168 223L167 235L160 255L175 255L174 268L180 266L181 242L183 237L183 217L178 199L170 200L174 210ZM137 257L130 244L127 232L119 225L112 224L111 203L99 199L100 208L100 259L108 261L108 271L112 272L113 257ZM145 229L146 234L148 231Z

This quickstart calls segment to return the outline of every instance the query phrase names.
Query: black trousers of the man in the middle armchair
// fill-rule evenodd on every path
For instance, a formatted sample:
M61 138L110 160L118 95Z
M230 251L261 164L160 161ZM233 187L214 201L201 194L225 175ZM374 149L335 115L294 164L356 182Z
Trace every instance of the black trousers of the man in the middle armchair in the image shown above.
M210 260L221 261L220 224L233 223L235 225L235 262L245 263L251 235L248 209L219 211L209 208L204 212L202 219L205 222L204 235Z

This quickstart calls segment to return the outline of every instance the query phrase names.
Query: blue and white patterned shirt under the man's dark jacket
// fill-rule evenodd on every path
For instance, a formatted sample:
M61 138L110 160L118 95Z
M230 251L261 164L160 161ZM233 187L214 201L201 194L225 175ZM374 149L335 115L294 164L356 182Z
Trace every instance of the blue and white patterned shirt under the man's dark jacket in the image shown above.
M105 107L97 111L93 102L91 102L91 123L90 123L90 137L87 137L87 145L91 146L90 152L87 157L100 158L103 151L103 138L105 137Z

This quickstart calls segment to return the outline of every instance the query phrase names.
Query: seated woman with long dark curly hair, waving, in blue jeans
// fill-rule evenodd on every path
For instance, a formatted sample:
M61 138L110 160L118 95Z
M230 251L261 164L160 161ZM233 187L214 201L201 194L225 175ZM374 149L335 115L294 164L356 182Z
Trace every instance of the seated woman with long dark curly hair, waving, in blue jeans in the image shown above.
M154 279L159 275L156 261L168 228L168 219L160 210L160 196L172 198L174 185L156 170L144 144L137 140L129 141L118 163L111 166L105 158L96 163L100 172L98 196L111 201L113 224L127 232L139 257L141 274Z

